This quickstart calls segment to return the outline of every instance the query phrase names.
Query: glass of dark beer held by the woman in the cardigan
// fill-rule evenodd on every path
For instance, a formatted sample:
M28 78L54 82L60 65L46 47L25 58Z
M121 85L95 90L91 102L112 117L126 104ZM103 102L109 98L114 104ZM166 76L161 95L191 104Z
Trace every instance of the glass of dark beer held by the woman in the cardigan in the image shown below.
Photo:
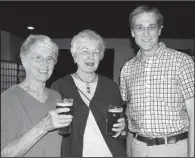
M118 119L123 117L123 107L109 105L106 120L106 134L114 136L116 132L112 131L113 124L118 122Z

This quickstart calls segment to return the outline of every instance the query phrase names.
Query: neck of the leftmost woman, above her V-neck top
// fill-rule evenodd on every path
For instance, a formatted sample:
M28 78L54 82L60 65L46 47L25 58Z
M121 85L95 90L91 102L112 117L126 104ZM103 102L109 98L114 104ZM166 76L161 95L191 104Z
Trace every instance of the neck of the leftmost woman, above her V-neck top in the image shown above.
M39 94L42 94L45 88L45 82L38 82L28 77L26 77L21 84L24 86L25 89Z

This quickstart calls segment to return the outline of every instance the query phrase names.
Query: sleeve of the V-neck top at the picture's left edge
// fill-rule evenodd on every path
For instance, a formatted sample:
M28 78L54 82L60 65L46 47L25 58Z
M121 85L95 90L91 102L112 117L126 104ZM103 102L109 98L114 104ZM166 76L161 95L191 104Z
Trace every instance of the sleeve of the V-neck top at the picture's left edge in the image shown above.
M1 94L1 148L21 135L18 104L20 100L13 93Z

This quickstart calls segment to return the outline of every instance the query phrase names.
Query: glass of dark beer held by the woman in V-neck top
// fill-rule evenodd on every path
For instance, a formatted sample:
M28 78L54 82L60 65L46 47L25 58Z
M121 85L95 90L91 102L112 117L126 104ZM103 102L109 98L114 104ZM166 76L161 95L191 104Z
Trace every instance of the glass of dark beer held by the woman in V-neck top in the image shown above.
M62 112L60 113L61 115L66 114L66 115L73 115L73 99L59 99L57 102L56 108L64 108L67 107L70 109L68 112ZM68 136L71 133L71 123L70 125L59 128L58 129L58 134L63 135L63 136Z

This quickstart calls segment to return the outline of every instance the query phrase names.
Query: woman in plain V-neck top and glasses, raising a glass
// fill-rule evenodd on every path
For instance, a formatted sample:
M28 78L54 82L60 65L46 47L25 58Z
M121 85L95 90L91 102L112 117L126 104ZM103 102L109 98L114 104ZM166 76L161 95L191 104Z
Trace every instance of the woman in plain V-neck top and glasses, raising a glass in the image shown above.
M61 137L68 126L68 108L56 108L60 94L46 88L57 62L58 46L45 35L30 35L20 51L26 78L1 94L1 156L59 157Z

